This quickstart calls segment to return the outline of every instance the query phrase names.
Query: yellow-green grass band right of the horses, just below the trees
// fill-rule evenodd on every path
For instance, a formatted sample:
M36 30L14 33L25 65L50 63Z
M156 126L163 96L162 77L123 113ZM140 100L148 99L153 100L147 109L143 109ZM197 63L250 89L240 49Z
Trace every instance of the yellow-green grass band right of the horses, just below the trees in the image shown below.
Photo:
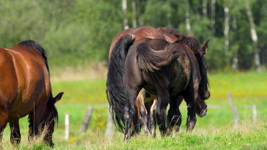
M227 92L251 99L267 96L267 72L210 74L209 79L211 98L223 98Z

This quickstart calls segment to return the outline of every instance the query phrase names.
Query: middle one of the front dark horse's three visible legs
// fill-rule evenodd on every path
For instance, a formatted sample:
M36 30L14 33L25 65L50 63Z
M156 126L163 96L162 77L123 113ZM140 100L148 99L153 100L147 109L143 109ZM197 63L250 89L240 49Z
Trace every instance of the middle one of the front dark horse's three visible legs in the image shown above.
M161 136L166 135L166 109L170 101L170 94L167 90L157 90L158 106L156 109L156 119Z

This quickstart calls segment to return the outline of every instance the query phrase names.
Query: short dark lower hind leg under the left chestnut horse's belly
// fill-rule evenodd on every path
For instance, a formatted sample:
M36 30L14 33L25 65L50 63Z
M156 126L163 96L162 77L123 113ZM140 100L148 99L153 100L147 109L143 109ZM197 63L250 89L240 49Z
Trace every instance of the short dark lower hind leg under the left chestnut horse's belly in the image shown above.
M12 145L19 145L21 135L19 130L19 120L9 122L10 126L10 142Z

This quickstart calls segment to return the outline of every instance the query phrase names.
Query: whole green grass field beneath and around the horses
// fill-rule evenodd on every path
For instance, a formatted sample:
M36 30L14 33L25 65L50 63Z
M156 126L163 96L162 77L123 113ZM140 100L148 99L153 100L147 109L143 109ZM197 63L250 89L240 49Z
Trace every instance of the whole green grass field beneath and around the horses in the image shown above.
M267 72L261 74L221 73L210 74L211 98L206 101L208 113L197 117L195 130L188 134L185 129L186 106L182 103L182 126L179 134L157 138L139 135L123 143L123 134L115 131L113 137L104 136L108 105L105 94L105 79L78 78L60 80L52 76L54 95L65 92L56 107L59 124L55 128L53 141L56 150L267 150ZM233 130L232 113L227 101L227 92L232 93L234 105L240 117L240 128ZM257 105L258 122L252 119L252 104ZM94 108L89 130L80 135L82 119L88 106ZM64 113L70 114L70 140L64 141ZM44 145L27 142L27 118L20 120L22 143L20 150L46 150ZM3 147L14 149L9 143L9 128L3 135Z

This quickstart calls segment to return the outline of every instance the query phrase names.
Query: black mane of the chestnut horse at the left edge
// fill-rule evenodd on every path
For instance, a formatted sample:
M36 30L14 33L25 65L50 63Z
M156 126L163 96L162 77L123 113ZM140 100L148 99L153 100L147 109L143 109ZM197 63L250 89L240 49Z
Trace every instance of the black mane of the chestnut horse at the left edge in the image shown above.
M45 62L45 66L47 68L47 71L48 71L48 74L50 76L50 72L49 72L49 67L48 67L48 63L47 63L47 56L46 56L46 52L45 52L45 48L43 48L39 43L37 43L36 41L34 40L24 40L24 41L21 41L20 43L18 43L19 45L21 46L25 46L27 48L30 48L30 47L33 47L36 51L38 51L40 53L40 55L42 56L42 58L44 59L44 62ZM51 84L50 85L50 96L49 96L49 99L48 99L48 102L47 102L47 107L52 110L51 111L51 114L52 114L52 117L54 118L55 122L58 123L58 112L56 110L56 107L55 107L55 102L53 101L53 95L52 95L52 88L51 88Z

